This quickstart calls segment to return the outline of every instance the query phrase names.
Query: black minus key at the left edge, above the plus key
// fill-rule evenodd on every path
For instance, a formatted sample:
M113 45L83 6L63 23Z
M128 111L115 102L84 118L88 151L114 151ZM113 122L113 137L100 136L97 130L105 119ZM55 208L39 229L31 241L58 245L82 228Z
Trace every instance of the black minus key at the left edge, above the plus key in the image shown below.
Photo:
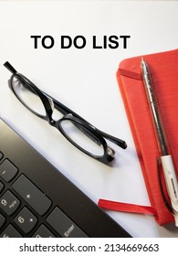
M5 159L0 165L0 176L2 176L6 182L11 181L16 176L18 169L8 159Z

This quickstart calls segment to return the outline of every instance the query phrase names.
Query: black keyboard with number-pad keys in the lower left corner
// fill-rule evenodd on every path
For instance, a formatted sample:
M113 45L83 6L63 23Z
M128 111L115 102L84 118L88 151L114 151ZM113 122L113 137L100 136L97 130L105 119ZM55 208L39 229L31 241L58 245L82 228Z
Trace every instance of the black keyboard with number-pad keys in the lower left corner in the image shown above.
M0 237L131 237L0 119Z

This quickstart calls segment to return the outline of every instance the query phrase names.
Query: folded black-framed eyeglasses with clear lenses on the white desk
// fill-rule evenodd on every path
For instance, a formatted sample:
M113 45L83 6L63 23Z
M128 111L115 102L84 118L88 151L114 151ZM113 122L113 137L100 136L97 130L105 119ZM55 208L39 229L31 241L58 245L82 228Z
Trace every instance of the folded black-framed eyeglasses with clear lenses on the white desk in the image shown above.
M44 91L40 91L33 82L18 73L8 61L5 62L4 66L12 73L8 82L16 98L30 112L47 120L50 125L56 127L71 144L75 145L85 154L104 164L109 164L114 159L115 152L108 146L106 139L123 149L127 147L123 140L108 133L103 133L80 117L79 114L71 111ZM55 110L64 115L58 121L53 118Z

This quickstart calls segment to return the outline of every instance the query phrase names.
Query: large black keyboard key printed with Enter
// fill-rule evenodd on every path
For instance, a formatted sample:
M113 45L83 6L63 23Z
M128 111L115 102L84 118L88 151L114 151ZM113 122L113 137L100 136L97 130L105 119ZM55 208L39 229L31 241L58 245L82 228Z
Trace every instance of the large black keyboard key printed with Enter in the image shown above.
M88 236L59 208L47 217L47 223L63 238L87 238Z

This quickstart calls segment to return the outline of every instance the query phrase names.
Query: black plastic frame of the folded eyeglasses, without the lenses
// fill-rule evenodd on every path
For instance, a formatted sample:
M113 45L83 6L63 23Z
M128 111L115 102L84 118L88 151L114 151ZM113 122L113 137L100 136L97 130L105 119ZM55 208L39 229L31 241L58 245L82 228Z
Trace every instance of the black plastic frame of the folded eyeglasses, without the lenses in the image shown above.
M104 133L102 131L100 131L99 129L97 129L96 127L94 127L93 125L91 125L89 122L87 122L85 119L83 119L82 117L79 116L79 114L77 114L76 112L73 112L72 110L68 109L68 107L66 107L64 104L62 104L61 102L57 101L56 99L54 99L53 97L49 96L47 93L45 93L44 91L40 91L37 86L30 80L28 80L24 75L18 73L16 71L16 69L13 68L13 66L6 61L4 64L5 68L8 69L13 75L11 76L10 80L8 81L9 83L9 87L10 89L14 92L14 94L16 95L16 98L21 101L21 103L23 103L24 106L26 106L26 108L30 111L33 112L34 114L36 114L38 117L46 120L50 125L54 126L55 128L57 128L59 130L60 133L62 133L67 139L68 141L75 145L77 148L79 148L79 150L81 150L83 153L99 160L100 162L104 163L104 164L109 164L113 159L114 159L114 151L108 146L106 139L110 140L110 142L112 142L113 144L117 144L119 145L122 149L126 149L127 148L127 144L125 143L125 141L116 138L108 133ZM22 99L20 99L18 97L18 95L16 94L16 91L14 90L13 87L13 79L17 78L18 80L20 80L25 87L28 87L29 90L31 91L35 91L39 97L39 99L42 101L45 111L46 111L46 115L40 115L39 113L33 111L31 108L29 108L26 105L26 102L22 101ZM59 119L58 121L55 121L52 118L52 114L53 114L53 109L52 109L52 103L54 104L55 108L61 112L62 114L64 114L64 116ZM103 150L104 150L104 154L102 156L98 156L98 155L93 155L91 153L89 153L89 151L85 150L83 147L80 147L79 144L76 144L73 140L71 140L68 135L64 132L61 123L64 120L68 120L70 122L75 122L78 123L80 127L80 131L82 131L83 133L86 134L86 130L87 130L87 135L90 137L90 139L92 139L93 141L96 142L95 138L97 138L98 142L102 145ZM81 127L83 127L83 129L81 129ZM97 143L97 142L96 142Z

